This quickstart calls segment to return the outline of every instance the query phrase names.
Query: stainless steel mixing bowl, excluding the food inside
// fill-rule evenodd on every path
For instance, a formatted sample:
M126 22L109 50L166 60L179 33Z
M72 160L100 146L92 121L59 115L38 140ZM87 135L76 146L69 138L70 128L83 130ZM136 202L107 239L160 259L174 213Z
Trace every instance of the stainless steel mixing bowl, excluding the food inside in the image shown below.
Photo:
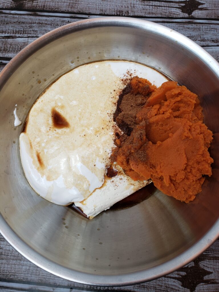
M42 199L27 183L19 158L22 126L14 127L15 104L24 121L34 100L51 82L75 66L106 59L147 64L199 95L205 123L214 133L214 164L213 175L190 204L157 191L137 206L109 210L89 221L70 208ZM191 261L219 234L218 86L219 65L204 49L153 22L121 17L83 20L34 41L0 74L3 236L37 266L85 284L144 282Z

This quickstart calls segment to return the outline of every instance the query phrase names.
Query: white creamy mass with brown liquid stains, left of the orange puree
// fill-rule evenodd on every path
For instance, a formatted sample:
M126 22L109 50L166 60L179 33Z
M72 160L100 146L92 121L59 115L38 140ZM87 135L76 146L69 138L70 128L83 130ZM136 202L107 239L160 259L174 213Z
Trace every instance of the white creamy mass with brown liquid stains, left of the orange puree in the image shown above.
M150 181L133 181L119 166L106 177L114 146L113 121L124 77L166 77L145 65L101 61L82 65L55 81L34 103L20 134L20 158L31 187L48 201L76 206L93 218Z

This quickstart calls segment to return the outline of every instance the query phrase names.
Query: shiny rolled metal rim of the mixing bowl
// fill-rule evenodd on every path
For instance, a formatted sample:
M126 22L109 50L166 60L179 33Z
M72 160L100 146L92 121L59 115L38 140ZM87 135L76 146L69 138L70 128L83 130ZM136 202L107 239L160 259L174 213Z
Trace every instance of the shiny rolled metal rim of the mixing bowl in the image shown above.
M199 45L197 45L194 41L190 40L186 36L175 32L172 29L164 27L163 25L159 25L157 23L147 20L126 17L101 17L69 23L44 34L43 36L33 41L31 44L23 48L1 71L0 90L9 79L9 77L13 74L13 72L15 72L20 64L22 64L22 62L24 62L35 51L39 50L49 42L72 32L79 31L81 29L89 29L91 27L102 26L133 27L150 30L155 34L161 34L163 36L166 35L170 39L172 38L173 40L178 41L178 43L183 44L184 47L191 50L194 55L199 57L199 59L201 59L205 64L208 65L208 67L215 73L215 75L219 79L218 62L203 48L201 48ZM11 246L13 246L13 248L15 248L27 260L34 263L36 266L42 268L43 270L46 270L47 272L54 274L58 277L87 285L126 286L157 279L166 274L170 274L175 270L178 270L180 267L183 267L187 263L194 260L194 258L203 253L218 238L219 219L204 235L204 237L202 237L196 244L194 244L187 251L183 252L172 260L169 260L166 263L157 265L147 270L116 275L97 275L79 272L76 270L65 268L52 262L51 260L44 258L39 253L34 251L30 246L28 246L24 241L22 241L22 239L6 223L2 215L0 215L0 232L3 237L8 241L8 243L11 244Z

